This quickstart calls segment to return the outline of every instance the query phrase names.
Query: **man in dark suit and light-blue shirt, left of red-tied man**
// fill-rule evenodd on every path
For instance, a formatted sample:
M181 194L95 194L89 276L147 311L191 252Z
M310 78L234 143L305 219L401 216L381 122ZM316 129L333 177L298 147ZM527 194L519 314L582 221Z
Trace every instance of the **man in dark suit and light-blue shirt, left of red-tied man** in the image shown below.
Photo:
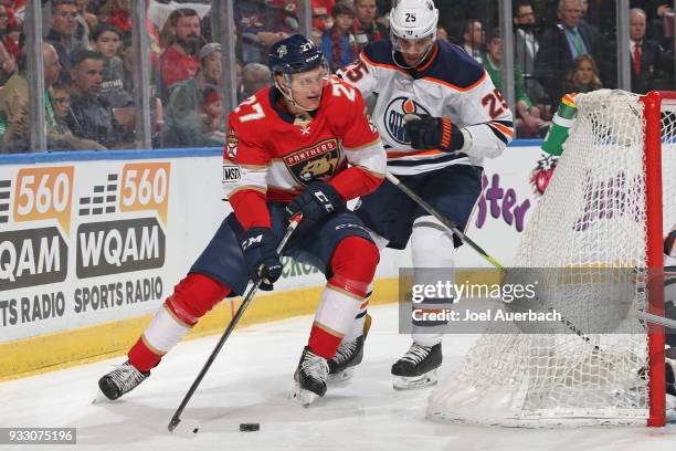
M613 72L610 71L612 60L609 57L612 52L605 50L601 33L581 21L581 0L559 0L558 17L560 21L540 36L540 49L547 51L540 51L536 56L536 74L549 96L552 111L563 95L566 74L573 67L578 55L588 54L596 61L603 55L609 72Z

